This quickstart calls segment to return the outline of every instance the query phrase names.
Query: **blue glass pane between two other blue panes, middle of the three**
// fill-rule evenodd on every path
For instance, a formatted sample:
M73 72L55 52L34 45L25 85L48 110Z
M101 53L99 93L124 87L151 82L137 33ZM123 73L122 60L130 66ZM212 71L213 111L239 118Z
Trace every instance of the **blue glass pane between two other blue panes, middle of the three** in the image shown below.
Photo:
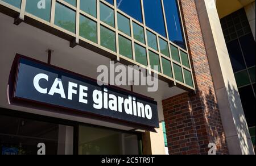
M146 0L143 5L146 26L166 37L161 0Z

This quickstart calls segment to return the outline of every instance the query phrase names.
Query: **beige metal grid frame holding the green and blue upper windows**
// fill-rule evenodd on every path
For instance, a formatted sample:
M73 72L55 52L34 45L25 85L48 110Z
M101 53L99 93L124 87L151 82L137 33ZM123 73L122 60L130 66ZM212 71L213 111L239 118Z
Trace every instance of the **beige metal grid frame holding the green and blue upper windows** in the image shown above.
M160 77L163 78L164 81L168 82L169 84L171 84L172 86L179 86L180 88L183 88L185 90L188 90L188 91L194 91L195 92L195 81L194 81L194 77L193 77L193 70L192 70L192 65L191 65L191 56L189 55L189 52L188 52L188 45L187 45L187 40L185 38L185 31L184 31L184 24L183 24L183 18L182 18L182 15L181 15L181 8L180 8L180 2L179 0L176 0L177 1L177 6L179 8L179 14L180 14L180 19L181 19L181 27L182 27L182 30L183 30L183 36L184 36L184 40L185 40L185 47L187 48L187 50L179 47L179 45L173 43L170 41L170 38L169 38L169 35L168 34L168 29L167 29L167 21L166 21L166 13L165 13L165 10L164 10L164 3L163 3L163 0L160 0L161 1L161 4L162 4L162 11L163 11L163 18L164 18L164 27L166 28L166 34L167 34L167 37L164 37L160 34L158 34L157 32L155 32L154 30L152 30L151 28L147 27L146 26L146 20L145 20L145 15L144 15L144 6L143 6L143 0L140 0L141 1L141 9L142 9L142 22L139 22L138 20L132 18L131 16L129 16L128 14L124 13L123 11L119 10L117 8L117 1L114 1L114 5L111 5L110 3L104 1L104 0L96 0L96 12L97 12L97 16L96 18L82 10L80 10L80 0L76 0L76 6L73 6L71 4L69 4L68 2L65 2L63 0L51 0L52 1L52 5L51 5L51 18L50 18L50 22L47 22L46 20L43 20L41 18L38 18L37 16L35 15L32 15L30 13L27 13L26 12L26 0L22 0L22 4L21 4L21 7L20 9L14 7L14 6L11 6L9 5L8 3L6 2L3 2L0 0L0 5L2 6L5 6L5 7L8 7L9 9L11 10L15 10L16 12L19 13L19 18L24 20L24 18L26 16L28 16L29 18L32 18L34 20L36 20L37 22L40 22L40 23L43 23L43 24L46 24L47 26L49 27L52 27L52 28L55 28L56 30L58 31L61 31L61 32L64 32L65 34L71 36L75 43L76 44L79 44L80 42L85 42L85 43L88 43L90 45L93 45L94 47L97 47L97 48L100 48L102 50L104 50L105 52L108 52L112 55L115 56L115 60L117 61L125 61L125 62L128 62L129 64L133 64L133 65L139 65L143 68L146 68L147 70L150 70L151 72L154 72L156 74L158 74ZM56 26L54 24L54 20L55 20L55 5L56 3L60 3L61 5L64 5L66 7L68 7L69 9L71 10L74 10L76 12L76 28L75 28L75 33L73 32L70 32L68 30L65 30L64 28L61 28L59 26ZM112 26L109 26L108 24L102 22L100 20L100 3L103 3L104 5L110 7L111 9L113 9L114 11L114 23L115 23L115 27L112 27ZM123 16L125 16L126 18L128 18L130 20L130 30L131 30L131 36L129 35L126 35L125 33L121 32L118 30L118 22L117 22L117 13L119 14L122 14ZM91 20L93 20L94 22L97 23L97 43L94 43L88 39L85 39L85 38L82 38L80 35L79 35L79 32L80 32L80 15L83 15L85 16L86 18L89 18ZM137 23L139 26L143 27L144 29L144 40L145 40L145 43L141 43L139 41L137 41L136 39L134 39L134 36L133 36L133 23ZM113 32L115 32L115 47L116 47L116 52L114 51L111 51L110 49L108 48L105 48L103 46L101 46L101 34L100 34L100 27L101 26L104 26L106 28L108 28L109 30L112 30ZM158 44L158 51L156 51L155 49L152 49L150 47L148 47L148 43L147 43L147 31L149 32L152 32L152 34L156 35L156 40L157 40L157 44ZM133 53L133 60L125 57L125 56L122 56L119 54L119 39L118 39L118 36L119 35L122 35L124 36L125 38L129 39L132 43L132 53ZM159 39L163 39L164 41L166 41L168 43L168 49L169 49L169 53L170 53L170 57L166 56L166 55L163 55L161 52L160 52L160 43L159 43ZM141 45L143 48L146 49L146 54L147 54L147 63L148 63L148 66L144 66L140 63L138 63L136 61L136 57L135 57L135 44L138 44L138 45ZM170 47L170 44L174 45L175 47L178 48L179 50L179 56L180 56L180 52L183 51L185 53L187 53L188 55L188 60L189 60L189 65L191 66L191 68L187 68L185 67L183 64L182 64L182 60L181 60L181 57L180 57L180 63L174 61L172 59L172 53L171 53L171 47ZM158 72L158 71L155 71L153 69L151 69L151 65L150 65L150 58L149 58L149 51L151 52L154 52L156 53L158 56L159 56L159 61L160 61L160 69L161 71ZM173 78L169 77L169 76L166 76L165 74L163 74L163 64L162 64L162 57L164 57L165 59L167 59L168 61L170 61L171 63L171 68L172 68L172 76ZM191 72L191 75L192 75L192 82L193 82L193 86L194 87L191 87L189 85L186 84L185 82L185 78L184 78L184 83L183 82L180 82L180 81L177 81L175 79L175 73L174 73L174 67L173 67L173 64L176 64L176 65L179 65L182 69L182 73L183 73L183 78L184 78L184 69L188 70L189 72Z

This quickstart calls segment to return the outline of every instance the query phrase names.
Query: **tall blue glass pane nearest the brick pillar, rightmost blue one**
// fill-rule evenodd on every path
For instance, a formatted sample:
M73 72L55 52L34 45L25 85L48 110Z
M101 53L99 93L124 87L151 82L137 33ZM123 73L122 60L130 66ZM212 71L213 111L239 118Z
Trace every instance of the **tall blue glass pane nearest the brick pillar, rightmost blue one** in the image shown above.
M180 22L179 8L176 0L163 0L169 38L185 49L183 30Z

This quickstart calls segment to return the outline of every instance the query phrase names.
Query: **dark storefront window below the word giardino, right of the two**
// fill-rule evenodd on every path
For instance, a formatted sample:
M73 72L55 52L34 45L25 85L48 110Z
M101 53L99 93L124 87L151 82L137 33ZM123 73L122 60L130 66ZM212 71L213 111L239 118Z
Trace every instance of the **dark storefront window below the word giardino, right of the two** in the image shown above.
M79 127L79 155L138 155L136 134L97 127Z

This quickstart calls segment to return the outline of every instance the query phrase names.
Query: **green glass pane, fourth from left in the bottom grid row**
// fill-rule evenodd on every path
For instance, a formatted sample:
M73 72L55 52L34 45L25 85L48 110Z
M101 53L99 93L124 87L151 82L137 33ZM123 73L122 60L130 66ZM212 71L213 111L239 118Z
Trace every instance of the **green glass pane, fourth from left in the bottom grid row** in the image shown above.
M97 43L97 23L80 15L80 36Z

